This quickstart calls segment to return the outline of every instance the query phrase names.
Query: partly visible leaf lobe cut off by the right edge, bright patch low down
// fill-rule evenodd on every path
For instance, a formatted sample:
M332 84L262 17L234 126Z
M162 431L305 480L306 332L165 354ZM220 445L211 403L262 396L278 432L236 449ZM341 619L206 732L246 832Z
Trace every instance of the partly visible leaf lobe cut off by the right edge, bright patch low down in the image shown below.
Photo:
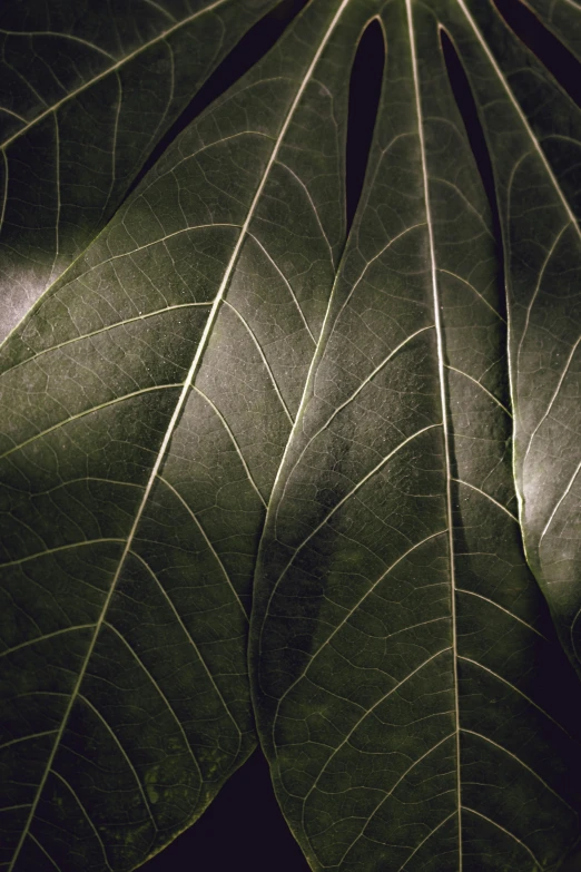
M482 58L467 72L503 225L514 474L526 557L581 669L581 112L496 16L459 2ZM567 4L565 20L562 2L530 6L581 57L579 7Z

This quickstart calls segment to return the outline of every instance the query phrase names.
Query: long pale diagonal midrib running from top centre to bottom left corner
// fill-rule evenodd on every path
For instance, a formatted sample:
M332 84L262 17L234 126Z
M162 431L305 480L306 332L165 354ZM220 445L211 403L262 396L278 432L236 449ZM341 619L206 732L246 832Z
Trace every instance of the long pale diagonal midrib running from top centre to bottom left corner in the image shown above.
M211 7L206 7L206 9L203 10L203 11L208 11L208 9L211 9L214 7L220 6L223 2L225 2L225 0L218 0L218 2L214 3ZM236 265L236 261L237 261L238 255L240 253L242 246L243 246L243 244L244 244L244 242L246 239L246 236L247 236L247 233L248 233L248 227L250 226L250 223L252 223L252 221L254 218L254 215L255 215L255 212L256 212L256 207L257 207L258 202L259 202L259 199L262 197L262 194L264 192L265 185L266 185L266 183L268 180L268 175L269 175L270 169L273 168L274 164L276 163L276 158L277 158L278 151L280 149L280 145L282 145L283 140L284 140L284 137L286 136L288 127L289 127L289 125L290 125L290 123L293 120L293 116L294 116L294 114L295 114L295 111L297 109L298 104L301 102L302 97L303 97L303 94L304 94L304 91L305 91L305 89L306 89L306 87L307 87L307 85L308 85L308 82L309 82L309 80L311 80L311 78L313 76L313 72L314 72L314 70L315 70L315 68L316 68L316 66L318 63L318 60L319 60L319 58L321 58L321 56L322 56L322 53L323 53L323 51L324 51L328 40L329 40L329 38L331 38L331 36L332 36L332 33L333 33L333 31L334 31L334 29L335 29L339 18L341 18L341 16L343 14L343 11L344 11L345 7L348 4L348 2L349 2L349 0L342 0L342 3L339 6L339 8L337 9L337 12L335 13L333 20L331 21L331 25L329 25L328 29L326 30L326 32L325 32L325 35L324 35L324 37L323 37L323 39L322 39L317 50L316 50L316 52L315 52L315 55L313 57L313 60L312 60L312 62L311 62L311 65L309 65L309 67L308 67L308 69L306 71L306 74L305 74L305 76L304 76L304 78L303 78L303 80L301 82L301 86L299 86L299 88L298 88L298 90L296 92L296 96L295 96L295 98L294 98L294 100L293 100L293 102L290 105L290 108L289 108L288 112L286 114L285 120L283 123L283 126L280 128L278 137L277 137L277 139L275 141L273 151L270 153L270 157L268 159L266 168L265 168L265 170L263 173L263 176L260 178L258 188L257 188L257 190L256 190L256 193L254 195L254 198L252 200L250 207L248 209L248 214L246 216L246 221L244 222L244 225L242 227L242 231L240 231L240 234L238 236L237 243L236 243L236 245L234 247L234 252L233 252L233 254L232 254L232 256L230 256L230 258L228 261L228 265L226 267L226 271L224 273L220 286L218 288L218 293L216 294L216 297L214 300L211 310L209 312L208 320L206 322L206 326L204 327L204 332L201 334L198 347L196 350L196 354L194 356L194 360L193 360L191 365L189 368L188 374L187 374L186 380L184 382L184 385L183 385L179 399L178 399L178 401L176 403L176 408L175 408L174 413L171 415L171 419L169 421L169 424L168 424L168 428L166 430L164 440L161 442L159 452L157 454L156 462L154 464L154 468L152 468L151 473L149 476L149 480L148 480L146 489L144 491L144 496L142 496L141 501L139 503L139 507L137 509L137 512L136 512L136 516L135 516L135 519L134 519L134 523L132 523L131 529L129 531L129 536L127 538L127 541L126 541L126 545L125 545L121 558L120 558L118 567L117 567L117 571L116 571L115 577L114 577L114 579L111 581L111 586L110 586L109 591L107 594L107 597L106 597L104 607L101 609L101 614L99 616L99 619L98 619L98 621L96 624L96 629L95 629L93 636L92 636L91 641L89 644L89 647L88 647L87 654L85 656L85 660L82 663L82 667L81 667L81 669L79 672L79 676L77 678L76 685L75 685L75 687L72 689L72 693L71 693L69 703L67 705L67 709L65 712L65 715L62 717L62 722L61 722L61 725L59 727L59 731L58 731L55 744L52 746L51 753L50 753L49 758L47 761L47 765L45 767L45 771L43 771L43 774L42 774L42 778L41 778L40 784L38 786L38 790L37 790L37 793L35 795L35 800L32 802L32 805L30 807L29 816L28 816L26 825L24 825L24 827L22 830L20 840L19 840L18 845L16 847L16 851L14 851L14 854L13 854L12 860L10 862L10 865L8 868L8 872L12 872L12 870L14 869L14 864L16 864L19 855L20 855L20 851L22 850L22 845L23 845L24 840L26 840L26 837L28 835L28 832L30 830L30 825L31 825L31 823L32 823L32 821L35 819L35 814L36 814L36 810L37 810L40 796L42 795L42 791L45 788L45 784L46 784L48 775L49 775L49 773L50 773L50 771L52 768L52 763L55 761L57 751L59 748L59 745L60 745L60 742L61 742L62 736L65 734L65 729L67 727L70 714L72 712L72 706L75 705L75 702L76 702L77 696L79 694L79 689L80 689L80 687L82 685L82 682L83 682L83 678L85 678L85 674L87 672L88 664L89 664L90 658L92 656L92 653L95 650L95 646L97 644L97 639L99 637L100 629L101 629L101 627L102 627L102 625L105 623L107 610L109 608L110 601L111 601L112 596L115 594L115 590L116 590L116 587L117 587L117 582L119 580L119 576L120 576L122 567L125 565L127 555L129 553L129 551L131 549L132 540L135 538L137 528L138 528L139 522L141 520L141 516L142 516L142 513L145 511L145 507L146 507L146 504L148 502L151 489L152 489L152 487L155 484L155 480L156 480L156 478L158 476L158 472L159 472L159 469L160 469L160 467L161 467L161 464L164 462L164 459L165 459L167 449L169 447L169 442L171 440L171 437L174 434L174 431L176 429L177 422L179 420L179 417L180 417L181 411L184 409L184 405L186 403L186 400L187 400L187 396L189 394L189 391L193 388L194 379L196 376L196 373L197 373L199 363L201 361L201 357L203 357L203 355L205 353L209 335L210 335L211 330L214 327L214 324L216 322L218 310L219 310L220 304L223 302L226 288L228 286L228 282L230 280L233 270L234 270L234 267ZM197 13L197 14L199 14L199 13ZM194 18L194 17L196 17L196 16L193 16L191 18ZM188 19L188 20L191 20L191 18ZM184 22L181 22L181 23L184 23ZM166 33L164 36L160 36L158 39L163 39L169 32L171 32L173 30L176 30L177 27L178 26L176 26L176 27L171 28L170 30L166 31ZM138 52L136 52L136 53L138 53ZM125 60L127 60L127 59L128 58L126 58ZM114 68L110 68L107 71L107 74L110 72L111 69L114 69ZM102 76L105 76L107 74L102 74ZM102 76L100 78L102 78ZM55 107L52 107L50 109L50 111L52 111L53 108ZM48 114L48 111L46 114ZM39 120L39 119L37 118L37 120ZM4 143L4 145L7 145L7 144ZM246 614L244 613L244 610L243 610L243 614L244 614L244 617L246 619ZM230 715L230 713L229 713L229 711L227 708L226 708L226 711ZM230 715L230 717L232 717L232 715Z

